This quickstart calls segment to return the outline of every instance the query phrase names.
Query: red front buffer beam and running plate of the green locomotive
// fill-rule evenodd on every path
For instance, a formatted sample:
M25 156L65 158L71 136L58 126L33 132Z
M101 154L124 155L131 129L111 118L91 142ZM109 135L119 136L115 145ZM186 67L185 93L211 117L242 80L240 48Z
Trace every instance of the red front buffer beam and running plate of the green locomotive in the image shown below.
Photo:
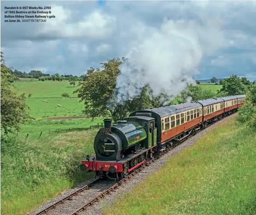
M92 171L109 171L110 167L113 166L114 168L116 168L116 172L123 172L124 171L124 164L127 163L128 161L139 157L142 154L145 154L146 152L150 153L150 151L155 151L155 147L157 147L157 145L154 145L152 147L150 147L149 149L143 149L140 150L140 152L137 152L136 154L129 154L123 158L121 158L120 160L108 160L108 161L103 161L103 160L97 160L97 158L94 157L90 157L86 160L82 160L81 164L82 164L82 169L83 170L92 170ZM132 167L130 167L132 168Z

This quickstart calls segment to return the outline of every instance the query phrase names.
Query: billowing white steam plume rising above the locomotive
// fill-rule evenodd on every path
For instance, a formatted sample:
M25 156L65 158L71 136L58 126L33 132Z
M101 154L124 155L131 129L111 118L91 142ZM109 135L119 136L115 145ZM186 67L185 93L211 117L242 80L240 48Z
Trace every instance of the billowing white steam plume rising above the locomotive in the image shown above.
M131 99L149 84L153 95L175 97L195 83L193 75L203 56L223 46L218 23L164 20L160 29L144 28L133 42L128 61L120 65L118 102Z

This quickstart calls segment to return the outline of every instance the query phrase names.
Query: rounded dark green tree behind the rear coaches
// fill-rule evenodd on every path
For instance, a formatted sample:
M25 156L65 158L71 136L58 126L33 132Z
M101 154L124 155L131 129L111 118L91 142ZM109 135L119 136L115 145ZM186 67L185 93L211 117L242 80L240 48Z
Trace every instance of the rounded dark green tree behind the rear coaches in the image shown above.
M237 75L231 75L223 80L222 89L219 92L223 92L226 95L241 95L246 93L246 86Z

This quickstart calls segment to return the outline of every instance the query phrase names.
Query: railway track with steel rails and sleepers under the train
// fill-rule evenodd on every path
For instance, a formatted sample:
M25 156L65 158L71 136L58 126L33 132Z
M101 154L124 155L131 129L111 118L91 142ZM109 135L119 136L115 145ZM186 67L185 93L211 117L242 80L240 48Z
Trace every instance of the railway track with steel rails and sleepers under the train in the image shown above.
M230 114L228 116L231 116L231 115L233 114ZM222 119L224 118L226 117L223 117ZM207 127L211 125L212 124L208 125ZM72 192L68 196L65 196L59 201L54 202L52 205L48 206L47 208L39 211L34 215L78 215L82 211L85 211L88 207L92 206L93 203L100 201L100 199L104 198L104 196L110 195L111 192L116 192L116 189L118 189L118 187L123 182L126 182L131 177L133 177L136 173L144 169L146 166L149 166L152 162L155 162L157 159L159 159L160 156L163 156L164 154L174 149L176 146L182 144L185 140L188 140L188 138L196 135L200 131L202 130L196 131L195 133L188 136L184 140L181 140L180 142L175 143L175 145L170 146L169 148L164 150L159 156L151 159L147 163L143 164L140 168L137 168L134 172L130 173L126 178L123 178L116 183L113 181L101 180L101 178L96 178L92 182L81 187L79 190ZM102 191L102 184L104 183L110 184L110 187Z

